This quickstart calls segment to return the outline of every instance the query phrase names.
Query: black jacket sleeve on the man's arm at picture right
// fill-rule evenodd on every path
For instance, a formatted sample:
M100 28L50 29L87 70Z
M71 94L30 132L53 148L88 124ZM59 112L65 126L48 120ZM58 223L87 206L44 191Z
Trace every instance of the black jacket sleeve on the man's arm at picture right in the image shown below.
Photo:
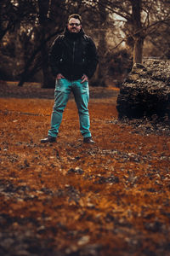
M97 54L97 49L95 47L94 41L90 37L88 37L88 53L87 54L88 54L88 67L85 73L88 76L88 79L91 79L98 65L99 57Z

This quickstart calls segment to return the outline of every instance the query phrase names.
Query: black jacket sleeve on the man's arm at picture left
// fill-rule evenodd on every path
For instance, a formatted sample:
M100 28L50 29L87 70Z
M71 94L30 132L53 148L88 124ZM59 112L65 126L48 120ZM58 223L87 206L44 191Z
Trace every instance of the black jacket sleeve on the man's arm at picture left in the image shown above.
M62 49L61 49L61 37L58 36L55 40L54 43L51 46L51 49L49 50L49 66L51 67L51 71L56 77L59 71L59 60L62 55Z

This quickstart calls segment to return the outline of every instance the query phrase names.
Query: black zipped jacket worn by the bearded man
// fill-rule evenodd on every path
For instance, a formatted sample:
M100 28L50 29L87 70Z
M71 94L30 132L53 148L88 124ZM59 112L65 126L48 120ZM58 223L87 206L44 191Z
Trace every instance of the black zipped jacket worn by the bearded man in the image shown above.
M73 81L86 74L91 79L98 64L95 44L82 29L71 33L66 28L65 33L54 40L49 52L49 64L55 77L62 73L65 79Z

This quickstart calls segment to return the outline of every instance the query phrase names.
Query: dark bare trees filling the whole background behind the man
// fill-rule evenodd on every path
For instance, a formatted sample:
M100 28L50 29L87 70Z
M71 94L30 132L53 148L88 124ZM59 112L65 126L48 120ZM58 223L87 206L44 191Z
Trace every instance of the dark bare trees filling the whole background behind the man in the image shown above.
M19 80L20 86L26 81L54 86L48 49L68 15L79 13L99 52L91 84L105 86L108 78L111 83L123 77L132 58L133 63L148 55L169 58L169 7L165 0L2 0L0 79Z

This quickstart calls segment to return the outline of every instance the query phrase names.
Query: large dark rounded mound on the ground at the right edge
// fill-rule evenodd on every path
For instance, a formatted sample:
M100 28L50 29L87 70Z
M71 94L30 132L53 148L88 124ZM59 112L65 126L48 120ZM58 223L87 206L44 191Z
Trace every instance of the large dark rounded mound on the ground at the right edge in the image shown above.
M170 61L147 59L135 64L120 88L119 118L170 119Z

